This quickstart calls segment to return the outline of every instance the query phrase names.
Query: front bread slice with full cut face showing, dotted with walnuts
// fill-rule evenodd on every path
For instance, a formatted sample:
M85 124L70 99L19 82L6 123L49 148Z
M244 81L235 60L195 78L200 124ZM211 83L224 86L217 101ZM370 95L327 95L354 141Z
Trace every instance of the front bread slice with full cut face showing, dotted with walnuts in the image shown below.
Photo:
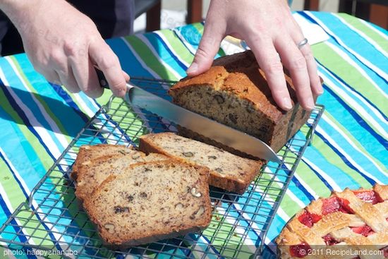
M174 159L133 164L103 181L84 207L107 244L172 238L210 224L208 174Z

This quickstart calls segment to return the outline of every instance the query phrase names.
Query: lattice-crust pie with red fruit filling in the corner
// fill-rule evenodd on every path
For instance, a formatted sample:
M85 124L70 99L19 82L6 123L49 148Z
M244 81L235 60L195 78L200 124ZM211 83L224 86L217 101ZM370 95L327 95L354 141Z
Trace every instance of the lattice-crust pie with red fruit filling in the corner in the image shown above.
M322 253L322 248L368 248L381 251L373 258L388 258L388 185L353 191L346 188L314 200L289 220L277 244L282 259L370 258L355 253L332 257Z

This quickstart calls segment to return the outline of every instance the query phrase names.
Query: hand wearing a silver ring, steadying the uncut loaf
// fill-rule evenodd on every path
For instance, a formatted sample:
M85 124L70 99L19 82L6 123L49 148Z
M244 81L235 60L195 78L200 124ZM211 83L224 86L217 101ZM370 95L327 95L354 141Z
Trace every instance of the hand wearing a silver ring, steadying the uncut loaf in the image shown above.
M212 66L226 35L245 40L252 49L281 109L292 108L282 64L291 73L301 106L307 110L314 108L315 97L323 92L317 65L308 44L301 49L297 47L305 37L286 0L212 0L202 40L187 70L188 76L197 76Z

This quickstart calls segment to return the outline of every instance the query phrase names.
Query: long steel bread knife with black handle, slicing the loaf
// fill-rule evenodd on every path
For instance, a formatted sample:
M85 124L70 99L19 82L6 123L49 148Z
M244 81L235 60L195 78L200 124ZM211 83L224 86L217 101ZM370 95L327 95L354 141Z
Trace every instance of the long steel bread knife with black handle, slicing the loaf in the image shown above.
M102 88L109 89L104 73L97 68L96 71L99 84ZM235 150L253 155L253 157L281 163L274 150L262 140L184 109L132 83L127 83L127 92L123 100Z

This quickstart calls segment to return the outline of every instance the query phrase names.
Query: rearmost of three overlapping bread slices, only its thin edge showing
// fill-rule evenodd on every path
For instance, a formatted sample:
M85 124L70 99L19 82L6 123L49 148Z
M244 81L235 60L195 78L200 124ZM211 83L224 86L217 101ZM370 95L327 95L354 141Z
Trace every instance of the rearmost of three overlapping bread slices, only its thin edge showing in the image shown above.
M97 145L83 145L78 150L77 159L73 164L71 171L71 178L77 181L77 174L81 164L86 161L90 161L97 157L104 157L108 155L125 155L133 151L133 147L126 147L125 145L108 145L108 144L97 144Z

